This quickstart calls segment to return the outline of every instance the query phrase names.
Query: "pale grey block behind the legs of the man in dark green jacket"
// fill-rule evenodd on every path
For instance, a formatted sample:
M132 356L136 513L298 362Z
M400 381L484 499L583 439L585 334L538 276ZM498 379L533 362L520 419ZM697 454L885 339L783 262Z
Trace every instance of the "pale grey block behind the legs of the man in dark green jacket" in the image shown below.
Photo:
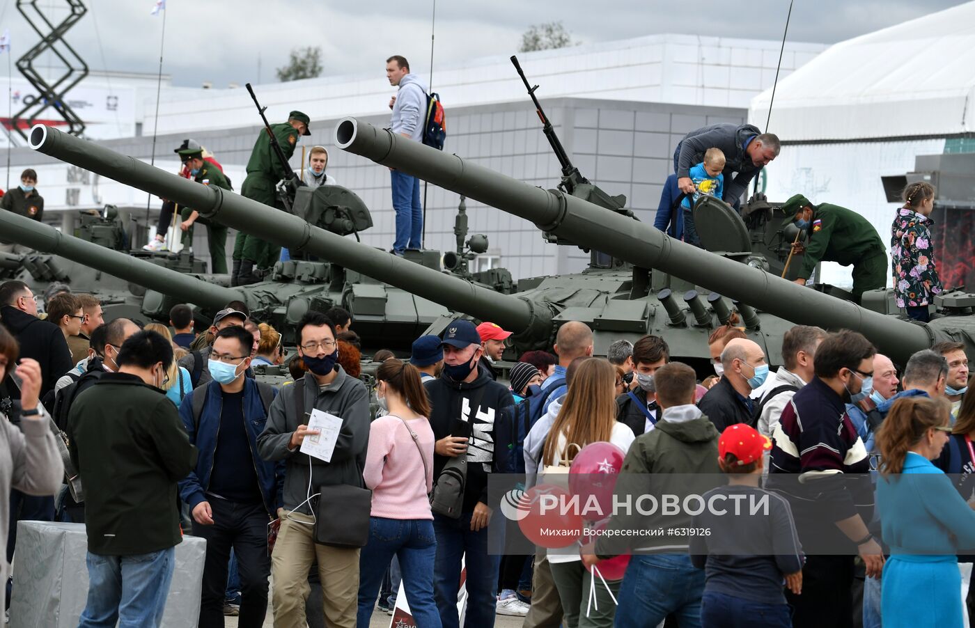
M88 597L84 524L21 521L17 527L11 628L73 628ZM183 536L176 545L173 583L163 628L196 626L207 541Z

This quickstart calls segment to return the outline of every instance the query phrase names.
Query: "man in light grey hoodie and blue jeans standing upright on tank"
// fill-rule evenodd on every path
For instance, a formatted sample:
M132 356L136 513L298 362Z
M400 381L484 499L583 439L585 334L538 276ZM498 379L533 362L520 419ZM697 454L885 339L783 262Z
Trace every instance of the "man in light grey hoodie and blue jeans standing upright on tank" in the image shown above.
M426 122L427 88L415 74L409 73L409 61L399 55L386 59L386 77L399 92L390 98L393 116L389 128L393 133L422 141ZM407 249L420 249L423 237L423 206L420 204L420 179L390 169L393 186L393 210L396 212L396 240L393 255Z

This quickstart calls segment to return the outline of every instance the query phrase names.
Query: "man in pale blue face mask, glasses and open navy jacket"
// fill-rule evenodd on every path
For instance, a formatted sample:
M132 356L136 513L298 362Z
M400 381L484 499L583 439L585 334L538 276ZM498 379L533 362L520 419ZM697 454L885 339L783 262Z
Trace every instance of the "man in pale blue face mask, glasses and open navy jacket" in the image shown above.
M267 524L281 506L284 464L257 454L274 388L245 376L254 336L239 326L216 334L208 368L213 381L190 391L179 416L200 457L179 483L193 512L193 535L207 539L200 623L223 625L230 549L241 576L241 626L261 626L267 612Z

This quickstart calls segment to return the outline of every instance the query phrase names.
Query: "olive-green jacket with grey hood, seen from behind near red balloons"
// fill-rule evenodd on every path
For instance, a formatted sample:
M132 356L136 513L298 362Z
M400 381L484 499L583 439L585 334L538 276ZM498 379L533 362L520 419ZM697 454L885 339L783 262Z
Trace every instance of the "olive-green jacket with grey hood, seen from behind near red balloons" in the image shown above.
M668 534L668 529L689 528L691 516L686 512L664 515L658 504L651 510L649 501L639 502L641 495L653 495L658 502L664 494L698 494L723 484L718 466L718 429L695 406L668 408L660 414L654 429L637 437L630 446L613 490L617 504L633 504L633 508L617 508L609 520L608 529L596 541L600 557L631 552L686 554L689 537ZM642 503L642 505L638 505ZM643 510L644 512L641 512ZM662 534L633 534L629 530L663 529Z

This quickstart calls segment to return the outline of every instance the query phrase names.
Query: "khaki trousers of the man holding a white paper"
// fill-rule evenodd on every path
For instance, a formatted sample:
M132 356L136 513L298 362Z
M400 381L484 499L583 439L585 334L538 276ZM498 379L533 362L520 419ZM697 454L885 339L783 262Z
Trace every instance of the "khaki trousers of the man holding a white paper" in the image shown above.
M319 545L309 515L284 512L271 555L274 628L304 628L308 569L318 558L325 617L330 628L355 628L359 604L359 549Z

